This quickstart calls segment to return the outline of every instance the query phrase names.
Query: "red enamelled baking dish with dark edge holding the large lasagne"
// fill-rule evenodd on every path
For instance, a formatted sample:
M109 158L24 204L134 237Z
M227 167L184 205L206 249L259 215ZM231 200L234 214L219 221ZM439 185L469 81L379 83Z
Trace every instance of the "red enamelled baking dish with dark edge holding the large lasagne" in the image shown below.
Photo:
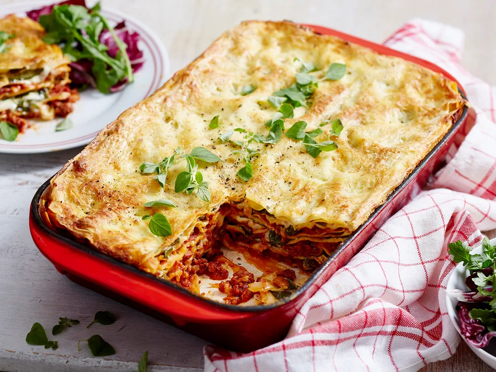
M428 61L329 28L308 26L317 33L335 35L381 54L415 62L456 81L446 71ZM463 95L461 87L460 91ZM52 230L40 217L39 201L48 190L50 180L38 189L32 200L29 216L31 235L40 252L69 279L227 349L253 351L284 338L298 310L322 283L345 265L375 231L401 208L419 187L425 185L429 176L442 163L454 135L464 126L467 110L467 107L463 108L457 122L434 149L394 190L386 202L311 275L291 300L250 307L214 302L76 242Z

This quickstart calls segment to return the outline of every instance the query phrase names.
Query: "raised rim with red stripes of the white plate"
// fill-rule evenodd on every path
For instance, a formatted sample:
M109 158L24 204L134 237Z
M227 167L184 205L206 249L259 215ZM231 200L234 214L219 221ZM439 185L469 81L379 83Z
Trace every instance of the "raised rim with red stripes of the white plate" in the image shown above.
M2 8L0 9L0 17L4 17L12 13L27 12L32 9L43 7L47 4L50 5L56 3L58 2L55 1L52 3L50 1L48 2L29 1L18 4L5 5L2 6ZM160 38L155 32L153 32L146 24L142 23L133 16L130 16L118 10L107 8L104 6L102 6L102 13L105 14L105 16L107 16L111 21L125 20L126 23L131 25L133 29L137 30L140 33L142 38L142 43L146 45L146 47L149 49L150 53L152 54L151 62L153 63L154 77L152 80L152 84L149 86L147 90L147 93L145 94L144 97L141 97L141 100L145 99L163 85L163 83L166 81L166 77L169 74L170 60L166 48L163 46L163 43L161 42ZM150 63L150 61L146 61L146 62ZM127 87L127 89L131 89L131 88L132 86ZM123 108L122 111L124 111L127 108L128 107ZM107 124L108 123L105 123L102 129L104 129ZM0 143L0 153L33 154L33 153L60 151L74 147L84 146L90 143L93 140L93 138L95 138L96 135L102 129L90 134L86 134L84 136L65 139L62 141L57 141L52 143L22 144L22 142L21 143L16 142L14 144L9 142L5 143L6 141L2 141L2 143Z

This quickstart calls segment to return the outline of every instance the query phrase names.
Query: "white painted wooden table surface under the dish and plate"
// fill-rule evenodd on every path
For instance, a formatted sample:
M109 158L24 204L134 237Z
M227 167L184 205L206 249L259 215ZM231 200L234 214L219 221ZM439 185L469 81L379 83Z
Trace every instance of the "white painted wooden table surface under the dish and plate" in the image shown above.
M50 2L50 0L47 0ZM12 1L0 0L2 4ZM290 19L340 29L382 42L403 22L424 17L462 28L466 33L464 65L496 84L496 2L479 0L360 1L152 1L104 0L104 6L146 22L168 49L172 72L199 55L224 30L246 19ZM447 7L447 4L450 4ZM36 249L28 229L29 203L36 189L81 148L37 155L0 154L0 370L100 371L137 370L149 351L152 371L190 371L202 367L205 342L172 326L80 287L60 275ZM86 329L95 312L110 310L111 326ZM24 341L33 322L47 334L59 316L81 324L58 335L59 348L46 351ZM117 351L93 358L77 352L76 343L100 334ZM461 347L449 361L425 370L489 370Z

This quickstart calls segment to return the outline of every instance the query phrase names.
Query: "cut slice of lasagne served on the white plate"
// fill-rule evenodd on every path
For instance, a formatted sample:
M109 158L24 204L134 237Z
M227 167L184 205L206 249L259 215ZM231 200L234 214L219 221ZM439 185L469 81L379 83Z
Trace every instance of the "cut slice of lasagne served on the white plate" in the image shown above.
M11 14L0 20L0 30L9 35L0 53L0 120L22 130L26 118L51 120L72 112L79 95L67 85L70 61L59 46L43 41L43 27Z

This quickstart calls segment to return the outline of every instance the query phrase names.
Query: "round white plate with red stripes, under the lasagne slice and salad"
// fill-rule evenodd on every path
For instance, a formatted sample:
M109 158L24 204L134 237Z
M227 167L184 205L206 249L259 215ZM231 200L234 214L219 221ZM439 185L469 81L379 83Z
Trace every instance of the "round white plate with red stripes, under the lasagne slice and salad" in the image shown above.
M2 6L0 18L12 13L25 16L25 12L39 9L43 5L46 4L23 2ZM114 24L125 20L127 26L141 36L139 46L143 50L145 63L135 73L133 84L120 92L108 95L96 89L81 92L80 100L74 104L74 112L68 116L73 122L71 129L55 131L55 126L61 118L51 121L33 120L33 125L19 134L15 141L9 142L0 138L0 153L40 153L86 145L120 113L148 97L164 83L170 65L166 49L159 37L147 25L127 14L105 7L102 8L102 14Z

